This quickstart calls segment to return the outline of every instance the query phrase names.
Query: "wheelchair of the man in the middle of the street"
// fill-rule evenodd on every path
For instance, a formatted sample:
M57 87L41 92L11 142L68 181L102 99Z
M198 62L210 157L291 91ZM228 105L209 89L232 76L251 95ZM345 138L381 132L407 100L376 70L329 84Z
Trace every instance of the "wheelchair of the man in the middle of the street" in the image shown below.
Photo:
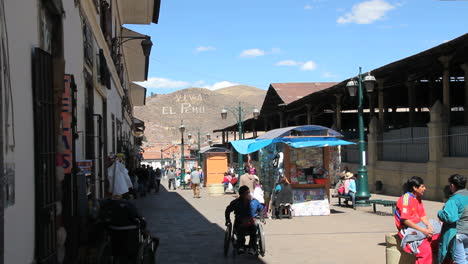
M255 218L255 232L257 233L255 255L257 257L264 257L266 252L265 232L263 231L264 224L266 222L263 217ZM234 230L232 223L228 223L224 232L224 256L227 257L229 255L229 249L232 247L232 256L235 257L238 254L237 249L239 246L243 245L237 244L237 232Z

